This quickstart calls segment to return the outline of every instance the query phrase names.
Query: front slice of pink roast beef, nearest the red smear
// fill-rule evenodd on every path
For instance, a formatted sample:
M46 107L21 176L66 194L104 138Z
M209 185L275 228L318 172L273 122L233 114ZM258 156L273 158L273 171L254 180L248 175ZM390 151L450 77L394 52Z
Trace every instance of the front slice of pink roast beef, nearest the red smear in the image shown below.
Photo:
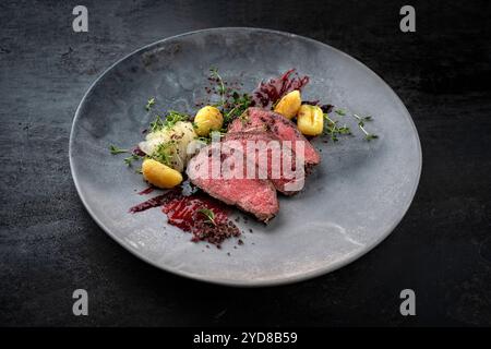
M217 142L202 148L190 160L187 173L192 183L213 197L267 221L279 209L276 190L267 179L247 178L247 167L240 149Z

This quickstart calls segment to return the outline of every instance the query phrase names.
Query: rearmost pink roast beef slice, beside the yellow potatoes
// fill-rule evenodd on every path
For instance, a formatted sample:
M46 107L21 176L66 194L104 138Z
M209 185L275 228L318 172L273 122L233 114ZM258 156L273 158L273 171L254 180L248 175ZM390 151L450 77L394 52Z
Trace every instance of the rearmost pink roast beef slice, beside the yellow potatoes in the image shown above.
M302 142L306 166L310 168L321 163L319 152L298 131L297 127L290 120L273 111L251 107L229 124L228 132L271 132L282 141L290 141L294 151L298 148L297 143Z

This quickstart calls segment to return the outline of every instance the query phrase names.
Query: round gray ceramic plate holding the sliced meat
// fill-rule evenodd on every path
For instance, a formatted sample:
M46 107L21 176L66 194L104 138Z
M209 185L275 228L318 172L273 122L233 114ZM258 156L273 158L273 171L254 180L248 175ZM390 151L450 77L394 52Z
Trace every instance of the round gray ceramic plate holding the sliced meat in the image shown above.
M217 67L226 80L242 81L244 91L297 68L311 76L306 99L373 116L368 128L380 139L367 142L358 134L334 144L314 142L322 165L303 192L280 198L279 215L268 226L241 219L244 244L236 249L233 240L221 250L193 243L189 233L167 225L158 208L128 213L147 198L136 194L146 185L123 165L122 156L109 154L108 145L131 146L142 140L140 131L151 121L144 110L149 96L156 96L158 108L195 111L194 101L205 96L209 67ZM355 120L344 118L358 133ZM70 164L92 217L133 254L194 279L262 286L337 269L380 243L415 195L421 149L399 98L351 57L292 34L215 28L152 44L109 68L76 110Z

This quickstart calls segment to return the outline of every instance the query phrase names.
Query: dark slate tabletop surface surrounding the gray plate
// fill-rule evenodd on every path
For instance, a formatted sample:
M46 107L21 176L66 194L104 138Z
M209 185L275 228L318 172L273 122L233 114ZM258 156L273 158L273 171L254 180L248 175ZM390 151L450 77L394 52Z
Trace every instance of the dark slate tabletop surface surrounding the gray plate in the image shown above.
M67 1L0 3L0 325L491 325L491 35L488 1ZM233 289L160 272L116 244L73 185L69 131L108 65L164 37L259 26L327 43L400 96L421 137L415 202L379 248L297 285ZM110 209L110 208L109 208ZM72 291L89 316L72 315ZM398 313L412 288L417 316Z

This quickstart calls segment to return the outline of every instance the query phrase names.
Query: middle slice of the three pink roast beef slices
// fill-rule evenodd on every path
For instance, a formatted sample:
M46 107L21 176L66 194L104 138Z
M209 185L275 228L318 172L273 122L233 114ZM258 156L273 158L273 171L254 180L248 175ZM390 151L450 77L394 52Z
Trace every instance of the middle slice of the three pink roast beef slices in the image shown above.
M295 152L273 133L229 132L223 142L238 147L249 161L255 164L254 173L249 176L270 179L276 190L286 195L302 190L306 178L303 160L297 161Z

